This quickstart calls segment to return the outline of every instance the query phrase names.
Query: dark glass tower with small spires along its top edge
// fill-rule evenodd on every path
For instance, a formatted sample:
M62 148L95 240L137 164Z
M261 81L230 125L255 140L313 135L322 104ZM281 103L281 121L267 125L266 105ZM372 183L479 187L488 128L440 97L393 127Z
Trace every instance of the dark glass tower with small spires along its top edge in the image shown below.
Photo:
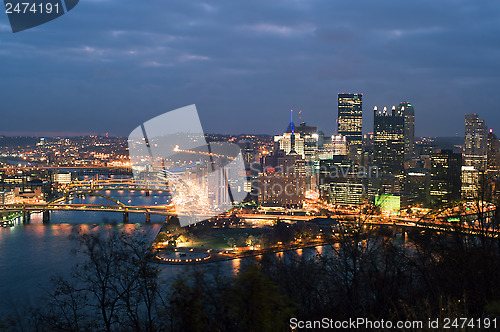
M392 107L392 112L375 106L373 121L373 163L382 173L401 175L404 169L404 116Z

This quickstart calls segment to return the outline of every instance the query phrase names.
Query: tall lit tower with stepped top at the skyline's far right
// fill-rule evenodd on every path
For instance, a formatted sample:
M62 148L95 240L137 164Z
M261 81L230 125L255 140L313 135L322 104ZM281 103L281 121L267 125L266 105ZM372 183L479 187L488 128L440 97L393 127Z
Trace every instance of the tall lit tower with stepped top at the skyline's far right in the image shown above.
M477 114L465 115L465 166L486 169L487 135L488 128Z

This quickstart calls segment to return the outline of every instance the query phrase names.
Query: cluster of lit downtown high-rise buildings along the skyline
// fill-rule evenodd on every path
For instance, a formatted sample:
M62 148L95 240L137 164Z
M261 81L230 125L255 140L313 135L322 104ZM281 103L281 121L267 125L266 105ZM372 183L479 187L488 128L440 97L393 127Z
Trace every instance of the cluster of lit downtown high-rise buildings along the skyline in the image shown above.
M308 192L333 204L386 197L401 207L470 199L484 174L498 176L500 143L477 114L465 116L465 142L442 149L415 140L415 110L401 102L375 107L373 133L363 135L363 95L338 95L337 135L293 120L274 137L272 153L252 166L263 205L301 206Z

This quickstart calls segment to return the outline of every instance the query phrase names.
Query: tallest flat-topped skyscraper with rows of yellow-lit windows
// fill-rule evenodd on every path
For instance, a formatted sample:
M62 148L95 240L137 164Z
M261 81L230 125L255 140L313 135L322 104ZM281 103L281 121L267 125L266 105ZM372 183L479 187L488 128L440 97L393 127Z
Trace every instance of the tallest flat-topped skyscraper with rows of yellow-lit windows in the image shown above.
M338 134L350 145L361 146L363 135L363 94L339 93Z

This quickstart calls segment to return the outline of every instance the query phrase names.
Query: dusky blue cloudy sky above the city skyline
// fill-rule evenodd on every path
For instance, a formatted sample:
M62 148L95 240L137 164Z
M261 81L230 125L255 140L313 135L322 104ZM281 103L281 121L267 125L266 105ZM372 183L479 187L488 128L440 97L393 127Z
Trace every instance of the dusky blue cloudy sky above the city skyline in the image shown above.
M13 34L0 15L0 134L106 133L196 104L206 132L334 132L337 93L410 101L416 134L500 133L500 1L81 0ZM298 117L296 118L298 122Z

